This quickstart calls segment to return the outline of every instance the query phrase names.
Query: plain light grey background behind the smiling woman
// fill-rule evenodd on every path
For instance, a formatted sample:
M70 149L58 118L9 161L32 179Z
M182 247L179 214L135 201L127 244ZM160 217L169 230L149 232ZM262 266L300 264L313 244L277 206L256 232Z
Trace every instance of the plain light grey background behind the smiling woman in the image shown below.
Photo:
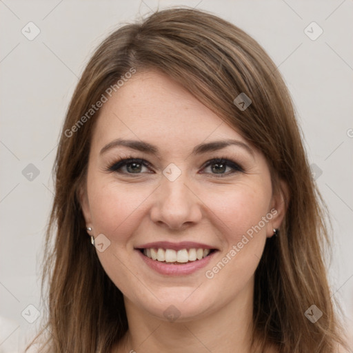
M37 330L39 319L31 324L23 316L35 318L28 305L42 310L39 260L52 203L50 173L61 123L85 63L122 22L158 6L177 5L231 21L259 41L279 66L296 105L310 163L322 171L316 173L316 182L334 225L332 295L352 331L352 0L0 0L1 353L21 352ZM32 41L21 32L24 28L34 34L34 27L27 26L30 21L40 30ZM323 30L316 40L307 36L319 34L312 21ZM22 174L30 163L40 172L32 181Z

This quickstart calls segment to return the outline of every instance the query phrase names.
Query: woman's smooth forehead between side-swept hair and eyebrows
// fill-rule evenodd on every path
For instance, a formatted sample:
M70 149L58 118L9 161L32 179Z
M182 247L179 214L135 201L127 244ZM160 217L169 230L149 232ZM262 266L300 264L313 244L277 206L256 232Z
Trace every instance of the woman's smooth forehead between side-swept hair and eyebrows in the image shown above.
M104 103L92 144L130 138L154 144L196 145L209 138L241 134L203 105L182 85L158 71L137 72Z

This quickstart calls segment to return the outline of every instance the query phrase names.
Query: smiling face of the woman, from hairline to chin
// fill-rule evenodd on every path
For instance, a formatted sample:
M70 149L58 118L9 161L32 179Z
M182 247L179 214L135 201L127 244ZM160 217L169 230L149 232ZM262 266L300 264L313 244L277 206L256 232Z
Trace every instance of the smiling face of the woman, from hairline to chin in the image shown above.
M154 71L135 74L101 108L84 189L105 272L125 305L163 320L250 297L284 214L263 154Z

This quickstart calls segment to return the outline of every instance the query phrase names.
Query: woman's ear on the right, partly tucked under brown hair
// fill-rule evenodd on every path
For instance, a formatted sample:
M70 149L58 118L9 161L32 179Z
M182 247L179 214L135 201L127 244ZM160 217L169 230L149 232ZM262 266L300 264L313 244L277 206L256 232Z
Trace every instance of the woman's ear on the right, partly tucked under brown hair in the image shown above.
M271 207L269 214L272 214L272 219L268 222L266 236L271 238L274 235L274 228L278 229L285 217L290 201L290 191L287 183L279 181L278 188L274 190L272 195Z

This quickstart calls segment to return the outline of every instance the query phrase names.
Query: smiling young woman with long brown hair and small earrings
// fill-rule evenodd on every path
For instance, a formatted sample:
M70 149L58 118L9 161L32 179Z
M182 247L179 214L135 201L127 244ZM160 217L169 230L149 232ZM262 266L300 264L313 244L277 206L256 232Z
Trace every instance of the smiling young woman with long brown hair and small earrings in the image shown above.
M55 176L43 352L343 345L290 95L239 28L171 9L113 32L74 92Z

